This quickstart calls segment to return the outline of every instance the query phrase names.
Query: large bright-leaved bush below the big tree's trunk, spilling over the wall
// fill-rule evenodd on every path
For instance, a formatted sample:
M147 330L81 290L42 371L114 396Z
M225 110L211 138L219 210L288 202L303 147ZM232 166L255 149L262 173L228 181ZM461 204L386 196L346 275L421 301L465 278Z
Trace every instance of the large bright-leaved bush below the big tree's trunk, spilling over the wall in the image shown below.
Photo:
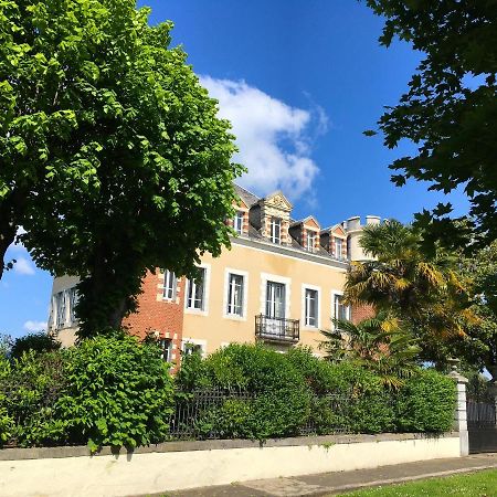
M136 447L167 437L173 389L159 348L130 336L83 340L68 350L57 402L68 443Z

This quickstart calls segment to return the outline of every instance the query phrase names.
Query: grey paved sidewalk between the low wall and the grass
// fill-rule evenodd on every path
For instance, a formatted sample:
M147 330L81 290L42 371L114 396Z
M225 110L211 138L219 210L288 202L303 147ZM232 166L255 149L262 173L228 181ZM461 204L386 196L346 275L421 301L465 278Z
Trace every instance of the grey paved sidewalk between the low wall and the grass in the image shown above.
M275 464L277 464L276 461ZM497 468L497 454L475 454L461 458L433 459L395 466L382 466L374 469L296 476L295 478L258 479L218 487L182 490L167 495L173 497L318 496L340 494L361 487L448 476L456 473L487 468Z

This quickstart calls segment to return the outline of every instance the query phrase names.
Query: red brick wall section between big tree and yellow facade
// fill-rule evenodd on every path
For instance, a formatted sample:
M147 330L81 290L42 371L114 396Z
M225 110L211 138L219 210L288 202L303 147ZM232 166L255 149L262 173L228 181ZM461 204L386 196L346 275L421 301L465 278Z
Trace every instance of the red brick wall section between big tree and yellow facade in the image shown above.
M144 339L158 331L160 338L172 340L172 361L177 369L181 360L181 339L183 330L184 278L178 279L176 302L166 300L163 295L163 273L147 273L141 284L142 294L138 297L138 310L124 319L131 335Z

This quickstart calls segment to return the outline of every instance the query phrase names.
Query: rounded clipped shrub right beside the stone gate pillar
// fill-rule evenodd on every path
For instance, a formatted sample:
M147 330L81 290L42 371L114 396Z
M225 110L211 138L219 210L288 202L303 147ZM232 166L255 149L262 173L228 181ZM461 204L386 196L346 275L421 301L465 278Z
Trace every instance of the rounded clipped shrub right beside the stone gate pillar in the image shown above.
M425 369L405 381L396 395L399 432L443 433L452 430L456 387L451 378Z

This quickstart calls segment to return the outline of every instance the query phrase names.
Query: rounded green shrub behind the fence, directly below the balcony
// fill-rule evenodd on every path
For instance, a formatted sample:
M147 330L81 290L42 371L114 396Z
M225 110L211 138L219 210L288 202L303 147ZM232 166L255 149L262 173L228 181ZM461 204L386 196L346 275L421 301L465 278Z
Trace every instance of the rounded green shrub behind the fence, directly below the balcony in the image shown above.
M178 374L186 389L224 389L254 394L207 410L198 421L201 436L215 430L228 437L266 440L298 433L308 419L310 390L284 355L260 345L230 345L199 362L183 360L188 374ZM192 380L191 372L198 376Z

